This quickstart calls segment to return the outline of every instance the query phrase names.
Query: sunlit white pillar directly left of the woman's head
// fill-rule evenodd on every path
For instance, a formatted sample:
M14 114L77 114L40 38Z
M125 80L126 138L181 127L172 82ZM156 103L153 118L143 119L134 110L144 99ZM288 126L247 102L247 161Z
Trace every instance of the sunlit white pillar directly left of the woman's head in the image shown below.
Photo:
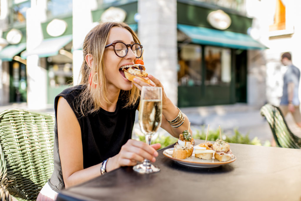
M82 66L82 44L85 36L92 29L91 9L95 7L93 1L73 0L73 85L80 82L79 72Z

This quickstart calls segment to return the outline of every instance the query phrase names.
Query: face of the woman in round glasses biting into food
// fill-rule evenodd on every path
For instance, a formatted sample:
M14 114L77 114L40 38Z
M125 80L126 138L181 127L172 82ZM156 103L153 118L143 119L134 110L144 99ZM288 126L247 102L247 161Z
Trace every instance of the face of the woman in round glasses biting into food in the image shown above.
M112 27L106 45L116 41L121 41L125 44L135 43L132 34L128 30L122 27ZM135 64L135 59L136 57L131 48L128 49L127 55L123 58L115 54L113 46L104 50L104 73L107 78L108 91L114 90L114 88L117 90L132 89L133 83L124 77L124 72L120 68L124 65Z

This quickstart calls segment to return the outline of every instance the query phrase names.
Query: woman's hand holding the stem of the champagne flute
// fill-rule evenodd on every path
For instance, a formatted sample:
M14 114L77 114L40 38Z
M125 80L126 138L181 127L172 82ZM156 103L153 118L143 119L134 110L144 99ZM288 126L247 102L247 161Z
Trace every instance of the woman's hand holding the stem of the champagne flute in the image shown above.
M155 162L158 156L156 149L161 147L160 143L148 145L144 142L129 139L121 147L120 152L108 160L107 171L119 168L121 166L134 166L137 162L143 162L144 159Z

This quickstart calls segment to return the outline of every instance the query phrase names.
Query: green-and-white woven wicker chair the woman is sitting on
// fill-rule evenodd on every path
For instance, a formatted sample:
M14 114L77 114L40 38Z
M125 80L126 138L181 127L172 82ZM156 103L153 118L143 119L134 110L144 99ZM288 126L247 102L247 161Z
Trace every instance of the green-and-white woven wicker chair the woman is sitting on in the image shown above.
M0 113L1 200L36 200L53 172L54 116L10 109ZM8 195L8 196L6 196Z

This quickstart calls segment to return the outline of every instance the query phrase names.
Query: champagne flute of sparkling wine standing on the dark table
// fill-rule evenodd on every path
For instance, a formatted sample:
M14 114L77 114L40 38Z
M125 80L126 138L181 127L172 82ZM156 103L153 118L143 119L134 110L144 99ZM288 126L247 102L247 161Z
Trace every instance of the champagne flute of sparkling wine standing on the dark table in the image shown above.
M151 138L161 126L162 121L162 87L142 86L139 115L139 125L145 135L146 143L151 144ZM141 174L159 172L160 168L151 164L147 159L133 167Z

